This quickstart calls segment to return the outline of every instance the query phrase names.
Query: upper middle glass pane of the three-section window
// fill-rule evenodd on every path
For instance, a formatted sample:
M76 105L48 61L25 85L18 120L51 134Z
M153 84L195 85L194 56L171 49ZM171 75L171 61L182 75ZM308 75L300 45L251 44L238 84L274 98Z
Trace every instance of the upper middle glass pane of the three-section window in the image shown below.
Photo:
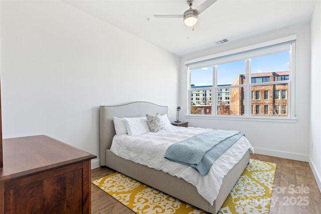
M217 66L217 85L245 84L245 60Z

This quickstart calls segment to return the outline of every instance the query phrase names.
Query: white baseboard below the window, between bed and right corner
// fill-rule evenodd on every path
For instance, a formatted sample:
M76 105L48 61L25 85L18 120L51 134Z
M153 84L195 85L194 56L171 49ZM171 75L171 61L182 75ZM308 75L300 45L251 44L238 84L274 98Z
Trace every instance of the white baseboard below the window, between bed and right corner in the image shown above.
M254 148L254 152L256 154L264 154L264 155L273 156L273 157L281 157L281 158L286 158L291 160L309 162L309 156L305 154L283 152L283 151L276 151L276 150L262 149L262 148Z

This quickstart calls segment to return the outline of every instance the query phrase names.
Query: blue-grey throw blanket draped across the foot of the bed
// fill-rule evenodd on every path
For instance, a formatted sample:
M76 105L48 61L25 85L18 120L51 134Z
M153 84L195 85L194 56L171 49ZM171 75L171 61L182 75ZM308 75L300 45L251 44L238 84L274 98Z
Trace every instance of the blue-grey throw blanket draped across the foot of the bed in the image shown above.
M213 130L173 143L165 158L189 165L201 175L207 175L214 161L244 134L239 131Z

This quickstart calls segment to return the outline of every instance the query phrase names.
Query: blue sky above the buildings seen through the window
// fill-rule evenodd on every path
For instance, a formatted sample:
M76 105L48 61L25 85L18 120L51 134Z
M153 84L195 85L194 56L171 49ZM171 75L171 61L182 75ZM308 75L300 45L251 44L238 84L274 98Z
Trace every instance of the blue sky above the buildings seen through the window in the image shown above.
M252 58L251 73L289 70L289 52ZM228 75L227 75L228 74ZM245 74L245 60L218 65L218 85L232 84L239 74ZM191 84L213 85L213 66L191 71Z

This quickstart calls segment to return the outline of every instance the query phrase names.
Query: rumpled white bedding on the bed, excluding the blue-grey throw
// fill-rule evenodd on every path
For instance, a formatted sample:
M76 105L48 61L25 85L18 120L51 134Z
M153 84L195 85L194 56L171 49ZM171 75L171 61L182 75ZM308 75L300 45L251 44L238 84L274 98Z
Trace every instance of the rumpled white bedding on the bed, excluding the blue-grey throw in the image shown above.
M110 150L124 159L185 179L196 186L198 192L213 205L224 176L247 150L254 153L252 145L244 136L214 162L206 176L200 175L190 166L165 159L166 150L171 144L210 130L212 129L173 126L170 130L137 136L115 135Z

